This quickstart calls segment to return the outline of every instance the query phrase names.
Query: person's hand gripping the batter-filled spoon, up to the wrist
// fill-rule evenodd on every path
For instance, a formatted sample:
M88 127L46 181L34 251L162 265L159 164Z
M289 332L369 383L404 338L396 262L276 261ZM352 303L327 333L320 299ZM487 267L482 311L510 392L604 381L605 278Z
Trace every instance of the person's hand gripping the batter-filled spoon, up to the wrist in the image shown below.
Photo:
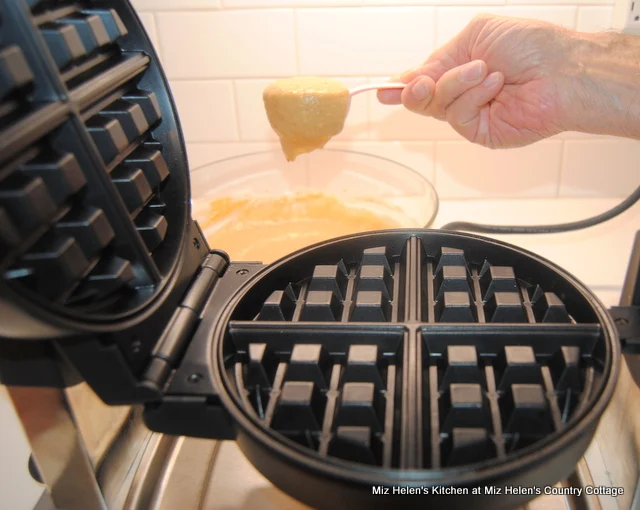
M448 121L489 148L528 145L574 126L581 99L576 33L541 21L478 16L420 67L380 90L384 104Z

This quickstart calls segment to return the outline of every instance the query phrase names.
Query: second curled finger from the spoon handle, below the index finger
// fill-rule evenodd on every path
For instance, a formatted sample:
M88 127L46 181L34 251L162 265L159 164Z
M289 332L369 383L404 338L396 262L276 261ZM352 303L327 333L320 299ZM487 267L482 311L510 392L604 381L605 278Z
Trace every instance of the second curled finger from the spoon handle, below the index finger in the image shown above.
M491 73L483 82L466 91L446 109L446 120L467 140L486 141L489 135L489 109L486 107L502 90L504 75Z

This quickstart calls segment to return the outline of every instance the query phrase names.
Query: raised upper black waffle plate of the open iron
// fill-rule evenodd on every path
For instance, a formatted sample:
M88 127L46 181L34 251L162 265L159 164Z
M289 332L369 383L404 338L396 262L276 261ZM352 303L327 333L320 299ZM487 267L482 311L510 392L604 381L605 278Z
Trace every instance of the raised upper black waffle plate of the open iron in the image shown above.
M130 315L176 269L189 196L137 17L125 2L0 2L0 81L4 281L76 320Z

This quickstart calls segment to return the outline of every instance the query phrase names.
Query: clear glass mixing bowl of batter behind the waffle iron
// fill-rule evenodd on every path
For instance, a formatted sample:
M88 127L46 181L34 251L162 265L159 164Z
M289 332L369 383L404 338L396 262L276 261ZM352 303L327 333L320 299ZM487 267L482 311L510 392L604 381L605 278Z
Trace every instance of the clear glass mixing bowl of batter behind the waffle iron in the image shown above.
M279 150L221 159L191 171L193 217L232 260L273 262L348 234L423 228L438 195L390 159L325 149L289 163Z

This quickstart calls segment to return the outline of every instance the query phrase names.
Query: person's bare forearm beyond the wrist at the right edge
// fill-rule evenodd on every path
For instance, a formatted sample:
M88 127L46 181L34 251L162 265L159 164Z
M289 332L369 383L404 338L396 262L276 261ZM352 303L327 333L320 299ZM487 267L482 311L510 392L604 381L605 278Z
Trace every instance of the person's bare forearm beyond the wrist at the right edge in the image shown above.
M640 139L640 37L575 34L569 130ZM573 88L573 87L572 87Z

